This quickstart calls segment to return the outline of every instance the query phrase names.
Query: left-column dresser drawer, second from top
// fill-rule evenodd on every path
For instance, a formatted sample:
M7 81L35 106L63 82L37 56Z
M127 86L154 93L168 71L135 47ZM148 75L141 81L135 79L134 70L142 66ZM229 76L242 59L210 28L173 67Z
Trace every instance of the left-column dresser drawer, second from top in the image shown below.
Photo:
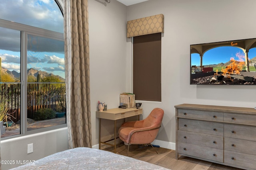
M178 130L223 136L223 124L191 119L179 119Z

